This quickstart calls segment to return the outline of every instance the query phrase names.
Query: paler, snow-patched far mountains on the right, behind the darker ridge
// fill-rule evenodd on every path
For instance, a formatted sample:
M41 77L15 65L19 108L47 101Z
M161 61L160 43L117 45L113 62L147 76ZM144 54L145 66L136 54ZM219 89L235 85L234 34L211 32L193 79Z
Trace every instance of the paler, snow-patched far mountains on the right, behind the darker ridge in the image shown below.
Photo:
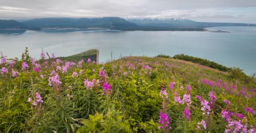
M181 18L160 18L160 19L126 19L137 25L154 26L154 27L225 27L225 26L256 26L255 24L246 23L208 23L196 22L189 19Z

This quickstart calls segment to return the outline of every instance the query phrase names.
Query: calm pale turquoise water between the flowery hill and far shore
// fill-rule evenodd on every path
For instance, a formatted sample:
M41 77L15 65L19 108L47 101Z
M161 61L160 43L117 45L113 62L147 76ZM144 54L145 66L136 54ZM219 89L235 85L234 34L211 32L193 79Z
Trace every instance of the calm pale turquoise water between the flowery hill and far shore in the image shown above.
M110 53L118 59L130 54L155 56L159 53L184 53L215 61L227 67L256 72L256 27L213 27L230 33L184 31L115 31L106 29L41 30L0 34L0 51L8 57L21 57L25 47L39 58L41 47L56 56L73 55L87 49L99 49L100 62Z

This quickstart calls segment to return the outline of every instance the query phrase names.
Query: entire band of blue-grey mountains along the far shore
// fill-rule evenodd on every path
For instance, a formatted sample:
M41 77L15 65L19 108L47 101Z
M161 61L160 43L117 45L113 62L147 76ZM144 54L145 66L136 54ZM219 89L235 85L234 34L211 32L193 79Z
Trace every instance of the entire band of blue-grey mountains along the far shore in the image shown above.
M206 27L256 26L245 23L206 23L181 18L161 19L122 19L120 17L102 18L41 18L18 22L0 20L0 28L110 28L116 30L204 30Z

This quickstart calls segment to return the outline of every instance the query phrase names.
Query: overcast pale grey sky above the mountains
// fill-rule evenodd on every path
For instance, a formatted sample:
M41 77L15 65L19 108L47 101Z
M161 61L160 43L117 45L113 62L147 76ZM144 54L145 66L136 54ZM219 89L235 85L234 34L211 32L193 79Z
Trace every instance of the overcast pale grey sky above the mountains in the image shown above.
M256 23L256 0L0 0L0 19L110 16Z

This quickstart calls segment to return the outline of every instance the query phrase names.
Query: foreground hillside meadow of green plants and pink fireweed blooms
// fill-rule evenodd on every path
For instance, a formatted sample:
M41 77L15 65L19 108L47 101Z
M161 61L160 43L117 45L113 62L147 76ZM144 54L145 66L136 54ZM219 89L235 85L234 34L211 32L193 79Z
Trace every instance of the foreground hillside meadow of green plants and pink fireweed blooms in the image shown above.
M0 57L0 133L256 133L256 79L179 59Z

